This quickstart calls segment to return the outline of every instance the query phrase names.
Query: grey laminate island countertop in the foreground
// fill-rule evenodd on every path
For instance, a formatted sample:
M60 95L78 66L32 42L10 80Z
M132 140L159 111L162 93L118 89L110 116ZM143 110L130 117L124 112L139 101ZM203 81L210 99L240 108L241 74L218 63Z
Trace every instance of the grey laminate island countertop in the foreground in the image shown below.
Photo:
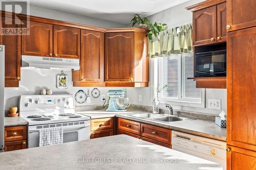
M217 163L127 135L0 153L0 164L10 170L222 169Z

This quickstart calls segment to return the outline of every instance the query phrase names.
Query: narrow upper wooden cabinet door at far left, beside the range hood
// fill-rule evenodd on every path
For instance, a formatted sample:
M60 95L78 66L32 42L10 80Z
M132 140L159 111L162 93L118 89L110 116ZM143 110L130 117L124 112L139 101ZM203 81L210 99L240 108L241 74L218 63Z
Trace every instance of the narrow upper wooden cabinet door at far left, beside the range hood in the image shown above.
M1 18L1 29L20 28L18 19ZM8 23L8 24L7 24ZM12 24L10 24L12 23ZM0 43L5 45L5 87L18 87L20 80L20 35L1 35Z

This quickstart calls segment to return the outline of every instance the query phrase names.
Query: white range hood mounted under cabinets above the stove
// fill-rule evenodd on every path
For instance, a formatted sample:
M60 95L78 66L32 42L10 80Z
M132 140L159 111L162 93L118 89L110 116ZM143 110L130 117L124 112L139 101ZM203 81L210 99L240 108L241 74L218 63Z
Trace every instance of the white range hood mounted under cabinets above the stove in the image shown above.
M54 57L38 57L22 55L22 68L46 68L70 71L72 69L79 70L79 59L54 58Z

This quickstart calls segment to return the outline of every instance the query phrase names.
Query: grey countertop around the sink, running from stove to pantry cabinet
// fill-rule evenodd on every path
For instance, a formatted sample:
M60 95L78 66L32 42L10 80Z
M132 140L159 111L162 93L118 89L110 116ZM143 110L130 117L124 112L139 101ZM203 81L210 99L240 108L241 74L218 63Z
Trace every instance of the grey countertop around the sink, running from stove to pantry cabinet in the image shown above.
M130 114L135 113L149 113L141 110L128 110L127 112L106 112L104 110L93 110L93 111L80 111L77 112L90 116L91 119L94 118L104 118L104 117L120 117L129 120L135 120L136 122L145 123L149 125L154 125L162 128L172 129L180 132L190 133L194 135L204 136L208 138L213 138L217 140L226 141L226 128L221 128L215 124L215 122L203 119L185 120L181 122L173 123L161 123L154 120L142 119L137 117L132 117Z

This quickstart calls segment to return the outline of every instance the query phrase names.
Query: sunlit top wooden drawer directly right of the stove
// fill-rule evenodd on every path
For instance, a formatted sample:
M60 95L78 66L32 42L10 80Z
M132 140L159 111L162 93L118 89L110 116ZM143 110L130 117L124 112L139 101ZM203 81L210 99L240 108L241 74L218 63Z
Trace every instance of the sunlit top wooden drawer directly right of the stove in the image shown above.
M91 119L91 131L113 129L113 118Z

